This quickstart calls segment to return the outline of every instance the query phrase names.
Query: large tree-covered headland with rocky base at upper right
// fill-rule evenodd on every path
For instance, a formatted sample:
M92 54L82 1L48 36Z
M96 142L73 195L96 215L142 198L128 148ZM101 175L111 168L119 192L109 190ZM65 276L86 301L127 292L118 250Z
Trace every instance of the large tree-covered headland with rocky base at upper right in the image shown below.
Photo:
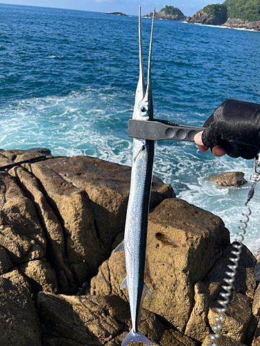
M205 6L186 21L260 31L259 0L225 0Z

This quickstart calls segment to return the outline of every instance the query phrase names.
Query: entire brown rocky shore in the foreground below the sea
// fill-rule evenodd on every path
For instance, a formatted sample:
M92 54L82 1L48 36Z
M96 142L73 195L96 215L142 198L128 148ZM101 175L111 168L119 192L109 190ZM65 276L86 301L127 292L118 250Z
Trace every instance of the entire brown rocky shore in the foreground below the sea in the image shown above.
M0 346L119 346L131 325L123 239L130 167L47 149L0 166ZM223 221L153 177L140 331L155 346L206 346L229 262ZM243 246L220 346L259 345L256 259ZM134 344L133 344L134 345Z

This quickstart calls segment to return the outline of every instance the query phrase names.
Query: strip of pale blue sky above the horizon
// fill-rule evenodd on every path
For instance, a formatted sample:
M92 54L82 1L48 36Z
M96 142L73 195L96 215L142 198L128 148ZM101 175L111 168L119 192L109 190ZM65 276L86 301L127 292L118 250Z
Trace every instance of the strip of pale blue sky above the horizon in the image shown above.
M166 1L166 2L163 2ZM223 0L224 1L224 0ZM156 8L157 12L165 7L174 6L186 16L192 16L198 10L210 3L222 3L223 1L210 0L0 0L0 3L12 5L40 6L51 8L68 8L70 10L85 10L94 12L123 12L125 15L138 15L139 5L142 6L142 14L146 15Z

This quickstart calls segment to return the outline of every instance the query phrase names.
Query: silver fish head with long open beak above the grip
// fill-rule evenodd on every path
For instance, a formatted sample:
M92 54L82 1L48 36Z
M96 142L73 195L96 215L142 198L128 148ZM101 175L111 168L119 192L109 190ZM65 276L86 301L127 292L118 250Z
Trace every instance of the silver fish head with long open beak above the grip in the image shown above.
M150 49L148 59L148 77L145 91L144 83L144 60L143 46L141 40L141 6L139 8L139 81L137 91L135 93L135 108L132 118L136 120L152 120L153 119L153 93L152 93L152 78L150 75L151 57L153 47L153 26L155 21L155 10L153 12L152 29L150 35Z

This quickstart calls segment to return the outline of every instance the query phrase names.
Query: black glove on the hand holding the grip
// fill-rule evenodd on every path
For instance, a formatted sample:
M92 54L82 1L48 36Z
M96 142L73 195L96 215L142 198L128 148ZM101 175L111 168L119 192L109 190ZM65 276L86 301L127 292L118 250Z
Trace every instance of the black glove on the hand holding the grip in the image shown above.
M260 104L227 100L205 122L202 143L224 147L227 155L248 160L260 149Z

